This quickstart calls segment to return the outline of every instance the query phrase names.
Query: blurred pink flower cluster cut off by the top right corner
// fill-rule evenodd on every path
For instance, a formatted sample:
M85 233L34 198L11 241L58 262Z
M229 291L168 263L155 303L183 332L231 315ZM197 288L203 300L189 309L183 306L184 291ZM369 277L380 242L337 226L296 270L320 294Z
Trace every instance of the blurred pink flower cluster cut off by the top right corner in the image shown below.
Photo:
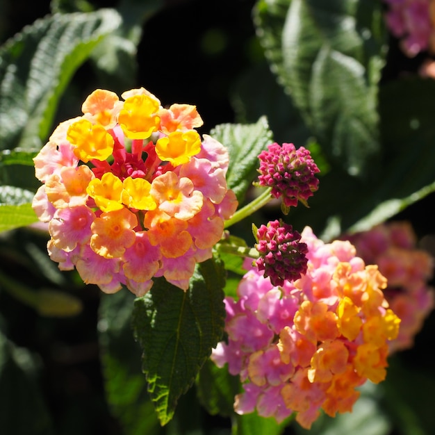
M435 10L431 0L385 0L386 24L405 55L413 58L421 51L434 51Z

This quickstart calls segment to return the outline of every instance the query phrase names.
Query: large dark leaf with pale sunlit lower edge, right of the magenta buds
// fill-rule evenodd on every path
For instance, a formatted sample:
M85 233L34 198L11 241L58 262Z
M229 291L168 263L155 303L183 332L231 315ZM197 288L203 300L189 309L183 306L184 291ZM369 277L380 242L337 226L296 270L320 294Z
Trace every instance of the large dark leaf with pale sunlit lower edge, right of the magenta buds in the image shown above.
M382 85L383 171L363 183L331 170L320 178L319 190L310 198L311 208L292 211L291 223L301 228L310 225L318 235L326 225L330 240L345 231L370 229L434 192L434 110L432 80L403 79Z

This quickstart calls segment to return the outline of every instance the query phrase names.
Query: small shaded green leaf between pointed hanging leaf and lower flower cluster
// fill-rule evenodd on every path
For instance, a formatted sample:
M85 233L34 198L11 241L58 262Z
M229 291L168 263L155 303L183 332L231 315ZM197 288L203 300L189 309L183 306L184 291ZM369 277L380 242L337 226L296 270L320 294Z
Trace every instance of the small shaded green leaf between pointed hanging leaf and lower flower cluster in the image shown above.
M240 378L232 376L228 368L218 368L208 359L197 377L199 402L211 415L234 415L234 397L240 393Z

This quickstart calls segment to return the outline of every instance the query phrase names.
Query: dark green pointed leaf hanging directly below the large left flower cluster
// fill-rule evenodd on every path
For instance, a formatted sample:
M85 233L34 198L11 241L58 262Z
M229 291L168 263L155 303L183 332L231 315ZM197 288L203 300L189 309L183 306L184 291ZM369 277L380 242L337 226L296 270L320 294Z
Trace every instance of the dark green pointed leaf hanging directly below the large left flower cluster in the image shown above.
M158 278L135 301L133 331L161 425L171 420L180 395L222 337L224 281L222 263L212 258L197 265L186 292Z

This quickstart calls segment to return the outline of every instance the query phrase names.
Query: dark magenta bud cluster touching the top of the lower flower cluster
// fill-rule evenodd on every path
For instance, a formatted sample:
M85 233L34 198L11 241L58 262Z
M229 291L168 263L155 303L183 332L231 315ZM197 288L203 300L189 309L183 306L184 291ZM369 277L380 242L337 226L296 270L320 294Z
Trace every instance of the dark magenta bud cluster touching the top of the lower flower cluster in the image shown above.
M261 225L256 232L255 245L260 258L258 270L270 278L274 286L282 286L285 280L294 281L306 272L306 243L300 243L301 235L290 224L274 220Z

